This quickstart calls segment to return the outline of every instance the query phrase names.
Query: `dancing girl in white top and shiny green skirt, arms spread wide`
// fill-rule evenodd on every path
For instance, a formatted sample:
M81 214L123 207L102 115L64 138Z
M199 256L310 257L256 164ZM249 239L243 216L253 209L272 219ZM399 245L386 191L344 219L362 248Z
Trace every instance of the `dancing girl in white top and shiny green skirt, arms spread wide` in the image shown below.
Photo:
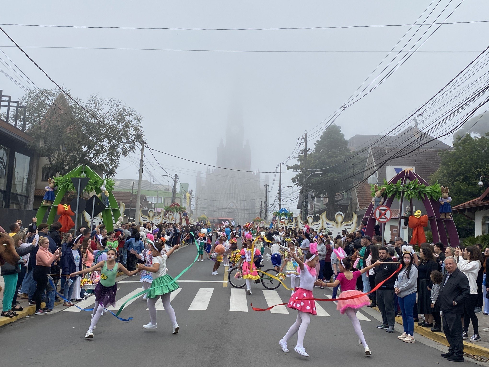
M173 310L172 305L170 304L170 293L178 289L177 282L173 282L173 278L166 274L166 260L168 256L170 256L175 250L177 250L181 245L175 245L170 251L162 254L162 250L164 249L163 244L161 242L153 242L151 240L147 240L150 245L153 247L152 255L153 255L153 264L152 266L144 266L143 264L138 264L137 267L140 271L146 270L152 273L153 282L151 283L151 288L148 289L146 293L148 297L148 310L150 311L150 319L151 321L144 325L145 329L156 329L158 324L156 323L156 301L158 298L161 298L163 303L163 307L165 308L166 313L170 317L173 325L172 334L178 333L178 323L177 317L175 316L175 311ZM163 251L164 252L164 251Z

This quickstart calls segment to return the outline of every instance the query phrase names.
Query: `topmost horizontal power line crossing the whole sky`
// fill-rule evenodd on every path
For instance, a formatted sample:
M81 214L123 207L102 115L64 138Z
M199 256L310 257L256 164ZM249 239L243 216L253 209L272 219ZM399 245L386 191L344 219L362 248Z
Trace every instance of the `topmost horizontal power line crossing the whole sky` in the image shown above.
M295 29L347 29L347 28L381 28L381 27L405 27L413 25L433 25L433 24L470 24L488 23L489 21L467 21L467 22L447 22L447 23L414 23L414 24L368 24L368 25L332 25L327 27L277 27L277 28L170 28L170 27L121 27L121 26L100 26L100 25L57 25L57 24L17 24L0 23L0 25L13 25L20 27L42 27L42 28L85 28L85 29L148 29L148 30L295 30Z

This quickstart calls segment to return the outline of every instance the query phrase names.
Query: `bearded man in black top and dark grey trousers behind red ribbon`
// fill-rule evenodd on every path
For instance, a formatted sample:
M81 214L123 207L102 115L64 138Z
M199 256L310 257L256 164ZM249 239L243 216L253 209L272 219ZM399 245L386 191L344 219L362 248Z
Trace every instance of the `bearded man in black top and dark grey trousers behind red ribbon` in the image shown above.
M376 286L394 274L398 269L398 264L387 256L387 248L385 246L378 248L378 257L380 258L382 265L375 267ZM382 286L376 292L378 309L382 314L382 323L377 325L377 327L379 329L385 329L385 331L388 333L394 332L394 324L396 323L396 312L394 310L395 281L396 277L391 277L384 284L382 284Z

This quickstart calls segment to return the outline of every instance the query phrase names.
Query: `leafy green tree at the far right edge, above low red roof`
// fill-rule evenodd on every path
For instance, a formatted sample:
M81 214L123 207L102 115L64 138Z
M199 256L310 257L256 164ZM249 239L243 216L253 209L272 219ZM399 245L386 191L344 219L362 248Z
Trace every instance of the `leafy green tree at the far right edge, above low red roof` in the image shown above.
M465 135L455 140L452 151L440 152L440 168L430 176L430 182L438 181L448 186L451 205L456 206L480 196L485 187L479 187L480 176L489 172L489 133L480 138ZM454 214L453 219L460 237L474 235L474 222L462 214Z

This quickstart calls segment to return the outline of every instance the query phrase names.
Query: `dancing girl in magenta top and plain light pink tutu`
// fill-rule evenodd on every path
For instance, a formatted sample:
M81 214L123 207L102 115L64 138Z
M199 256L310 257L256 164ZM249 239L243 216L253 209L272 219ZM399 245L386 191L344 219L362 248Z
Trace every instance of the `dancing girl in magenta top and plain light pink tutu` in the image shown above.
M363 268L359 271L352 273L350 271L352 269L352 258L350 256L345 257L345 254L343 252L337 251L336 249L334 249L333 251L336 253L338 259L340 259L339 262L340 274L338 274L336 280L333 283L325 283L321 280L318 280L316 282L316 285L322 287L334 288L337 287L338 284L341 284L341 294L338 296L338 298L336 298L336 300L338 301L336 305L336 309L339 310L340 313L346 314L346 316L348 316L350 321L352 321L356 335L358 335L358 338L360 339L359 344L363 344L363 347L365 349L365 355L371 356L372 352L370 351L370 348L365 342L365 337L363 336L363 331L360 326L360 321L358 321L358 318L356 317L356 311L359 308L362 308L363 306L369 305L370 299L367 297L365 293L356 291L355 285L356 285L356 278L358 278L363 273L368 272L370 269L379 265L380 261L377 261L376 263L367 266L366 268ZM347 298L356 295L361 295L361 297L353 298L353 299L341 299L341 298Z

